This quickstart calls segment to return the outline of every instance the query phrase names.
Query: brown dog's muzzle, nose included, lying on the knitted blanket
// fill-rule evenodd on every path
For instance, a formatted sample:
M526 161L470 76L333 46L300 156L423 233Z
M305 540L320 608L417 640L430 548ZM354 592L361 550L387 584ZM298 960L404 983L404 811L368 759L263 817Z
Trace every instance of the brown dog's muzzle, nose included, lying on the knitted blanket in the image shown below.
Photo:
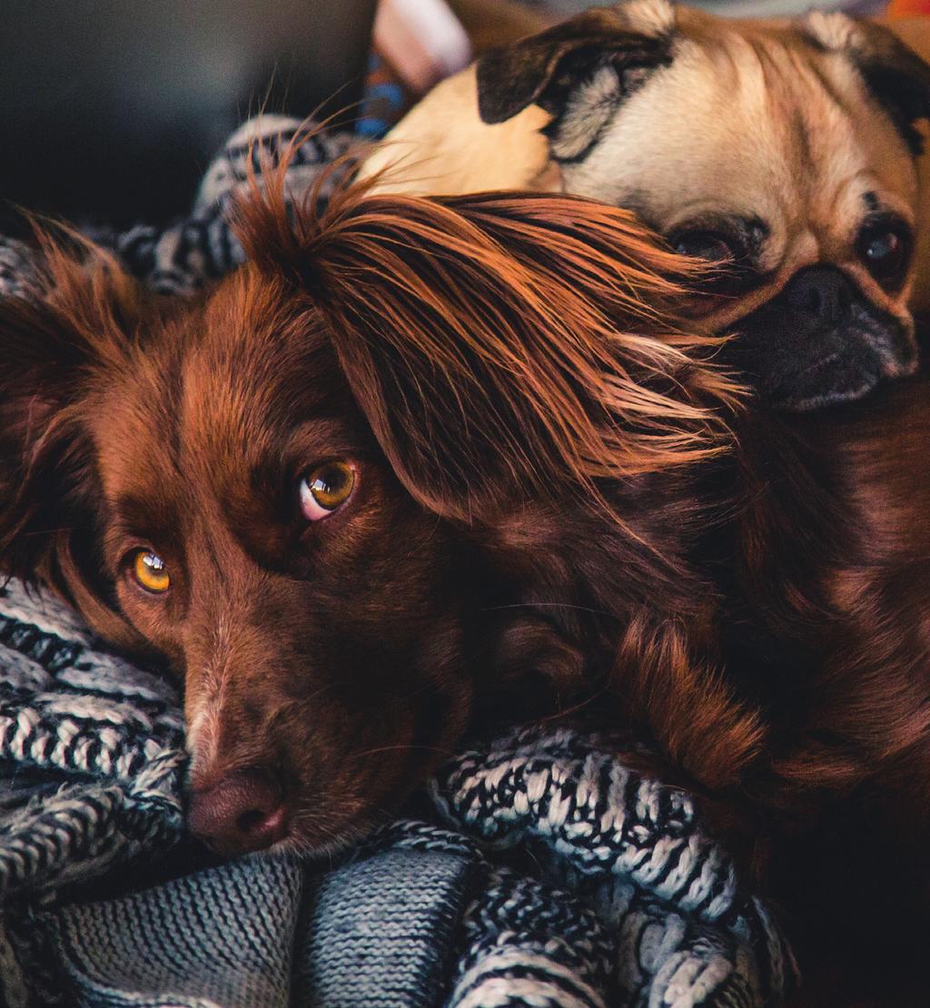
M254 614L240 619L225 642L197 634L221 645L212 664L191 653L185 686L187 829L224 857L345 846L392 814L464 729L471 690L451 648L418 664L391 653L388 630L369 644L305 620L301 653L280 627L256 635Z

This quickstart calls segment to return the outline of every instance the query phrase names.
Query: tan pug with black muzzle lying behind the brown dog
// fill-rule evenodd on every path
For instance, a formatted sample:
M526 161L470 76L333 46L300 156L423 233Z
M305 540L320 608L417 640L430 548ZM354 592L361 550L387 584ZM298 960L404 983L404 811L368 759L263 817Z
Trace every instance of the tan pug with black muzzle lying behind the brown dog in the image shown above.
M713 265L697 310L738 333L728 352L765 400L808 410L917 367L928 115L930 67L888 27L631 0L485 53L362 174L393 192L560 190L635 211Z

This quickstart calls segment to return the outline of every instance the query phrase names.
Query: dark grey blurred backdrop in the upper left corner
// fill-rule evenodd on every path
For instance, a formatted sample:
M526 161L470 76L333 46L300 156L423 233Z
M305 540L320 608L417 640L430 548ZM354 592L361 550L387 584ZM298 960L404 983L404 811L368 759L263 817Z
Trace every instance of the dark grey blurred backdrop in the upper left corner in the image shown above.
M117 227L183 213L250 113L359 101L374 6L3 0L0 231L13 204Z

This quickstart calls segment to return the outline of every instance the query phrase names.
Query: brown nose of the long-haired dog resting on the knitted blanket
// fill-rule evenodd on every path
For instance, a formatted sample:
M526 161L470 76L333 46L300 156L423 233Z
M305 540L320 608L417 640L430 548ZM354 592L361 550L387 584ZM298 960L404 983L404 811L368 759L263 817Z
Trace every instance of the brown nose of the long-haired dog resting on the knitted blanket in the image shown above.
M192 792L187 826L220 854L261 851L287 835L284 793L268 771L239 770Z

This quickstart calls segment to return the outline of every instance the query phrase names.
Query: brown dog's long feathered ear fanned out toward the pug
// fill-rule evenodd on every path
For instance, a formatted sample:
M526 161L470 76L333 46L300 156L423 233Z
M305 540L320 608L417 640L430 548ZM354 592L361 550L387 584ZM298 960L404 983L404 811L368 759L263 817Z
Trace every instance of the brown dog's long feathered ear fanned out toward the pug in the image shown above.
M670 313L693 261L625 211L542 194L350 192L322 222L258 203L243 213L252 258L321 309L384 454L436 513L595 501L601 477L720 449L712 407L733 389L689 356L716 344Z

